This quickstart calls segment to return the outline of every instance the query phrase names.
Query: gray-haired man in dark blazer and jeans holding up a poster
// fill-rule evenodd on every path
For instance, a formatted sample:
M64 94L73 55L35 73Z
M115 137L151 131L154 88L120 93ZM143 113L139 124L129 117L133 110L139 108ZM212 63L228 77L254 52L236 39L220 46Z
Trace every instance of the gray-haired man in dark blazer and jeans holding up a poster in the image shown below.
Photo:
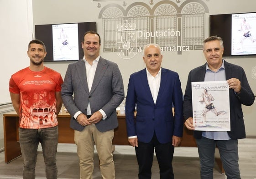
M205 39L203 51L207 63L191 70L188 74L183 102L185 126L189 130L194 130L193 135L196 138L200 157L201 179L213 179L216 144L219 148L227 179L241 179L238 166L237 140L246 138L241 104L251 106L254 102L254 94L251 91L243 68L222 59L224 47L220 37L211 36ZM230 115L230 131L195 131L192 101L194 98L197 99L198 96L194 96L192 93L194 87L192 82L210 83L217 81L226 81L229 87L228 103L230 107L225 115ZM225 98L222 95L219 95L219 97Z

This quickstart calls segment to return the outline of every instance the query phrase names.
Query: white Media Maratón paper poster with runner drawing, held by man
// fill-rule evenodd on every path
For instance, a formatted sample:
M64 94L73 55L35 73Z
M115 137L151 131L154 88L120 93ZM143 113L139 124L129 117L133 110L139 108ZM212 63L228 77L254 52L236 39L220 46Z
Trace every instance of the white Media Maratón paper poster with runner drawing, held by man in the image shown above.
M200 131L230 131L226 81L192 82L193 125Z

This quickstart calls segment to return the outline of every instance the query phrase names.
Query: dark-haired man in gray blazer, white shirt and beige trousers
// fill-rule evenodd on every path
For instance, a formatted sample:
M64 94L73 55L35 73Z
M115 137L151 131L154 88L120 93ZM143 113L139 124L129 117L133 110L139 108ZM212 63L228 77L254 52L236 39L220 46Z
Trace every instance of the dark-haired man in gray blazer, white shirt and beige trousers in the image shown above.
M115 178L112 155L116 108L124 99L124 85L117 64L99 56L100 36L85 32L84 58L68 65L62 86L63 103L70 113L70 127L80 160L80 179L92 179L94 145L104 179Z

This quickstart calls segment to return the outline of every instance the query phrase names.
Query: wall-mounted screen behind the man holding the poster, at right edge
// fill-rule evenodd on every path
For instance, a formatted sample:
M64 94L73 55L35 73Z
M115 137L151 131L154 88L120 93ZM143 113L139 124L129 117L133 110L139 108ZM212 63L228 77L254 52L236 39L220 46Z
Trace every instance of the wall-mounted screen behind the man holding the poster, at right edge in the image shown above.
M224 42L223 56L256 55L256 12L210 15L210 36Z

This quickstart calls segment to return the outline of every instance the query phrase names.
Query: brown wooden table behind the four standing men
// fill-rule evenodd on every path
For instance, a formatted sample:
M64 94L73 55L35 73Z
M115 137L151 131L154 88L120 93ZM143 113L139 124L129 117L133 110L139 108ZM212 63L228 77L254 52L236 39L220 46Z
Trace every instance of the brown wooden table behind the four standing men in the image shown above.
M114 145L129 145L126 133L125 114L117 115L119 126L114 130ZM18 124L19 116L17 113L10 112L3 114L4 120L4 141L5 141L5 163L16 159L21 155L21 148L19 144ZM69 127L70 115L62 110L58 115L58 129L59 129L59 143L74 143L74 130ZM184 127L183 140L180 144L181 147L197 147L195 139L193 138L193 131ZM216 152L217 154L218 152ZM224 174L221 160L219 156L215 156L216 162Z

